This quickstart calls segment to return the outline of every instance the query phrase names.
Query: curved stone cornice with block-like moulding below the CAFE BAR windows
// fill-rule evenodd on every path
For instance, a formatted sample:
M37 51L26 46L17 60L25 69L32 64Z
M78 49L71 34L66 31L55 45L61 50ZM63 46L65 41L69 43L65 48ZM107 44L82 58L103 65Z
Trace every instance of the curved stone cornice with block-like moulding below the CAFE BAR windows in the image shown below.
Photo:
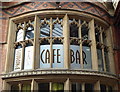
M112 79L117 79L114 74L99 72L93 70L68 70L68 69L49 69L49 70L31 70L31 71L17 71L2 74L3 79L25 77L25 76L40 76L40 75L86 75L86 76L100 76Z

